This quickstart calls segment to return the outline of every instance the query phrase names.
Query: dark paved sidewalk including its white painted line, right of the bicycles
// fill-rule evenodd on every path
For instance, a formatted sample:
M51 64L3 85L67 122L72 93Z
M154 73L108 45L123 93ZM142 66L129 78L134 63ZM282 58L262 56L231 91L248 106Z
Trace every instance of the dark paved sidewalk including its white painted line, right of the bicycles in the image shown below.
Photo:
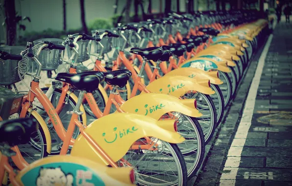
M276 26L262 57L264 68L255 72L220 186L292 186L292 23Z

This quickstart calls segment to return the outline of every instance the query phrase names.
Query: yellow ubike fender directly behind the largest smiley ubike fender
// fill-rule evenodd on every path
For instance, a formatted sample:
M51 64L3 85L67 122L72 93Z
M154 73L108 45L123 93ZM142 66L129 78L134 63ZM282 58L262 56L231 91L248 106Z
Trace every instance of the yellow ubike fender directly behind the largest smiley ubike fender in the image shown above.
M188 102L163 93L143 93L124 102L121 105L121 109L127 113L150 116L156 120L169 112L179 112L191 117L202 116L195 109L195 99L186 100ZM191 106L190 103L192 103Z

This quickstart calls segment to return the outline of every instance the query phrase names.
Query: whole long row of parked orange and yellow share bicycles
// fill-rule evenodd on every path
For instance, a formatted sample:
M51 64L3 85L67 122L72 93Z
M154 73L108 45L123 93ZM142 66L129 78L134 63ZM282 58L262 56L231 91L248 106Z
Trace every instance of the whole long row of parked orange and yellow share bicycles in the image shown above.
M256 12L171 13L0 47L0 182L186 186L267 29Z

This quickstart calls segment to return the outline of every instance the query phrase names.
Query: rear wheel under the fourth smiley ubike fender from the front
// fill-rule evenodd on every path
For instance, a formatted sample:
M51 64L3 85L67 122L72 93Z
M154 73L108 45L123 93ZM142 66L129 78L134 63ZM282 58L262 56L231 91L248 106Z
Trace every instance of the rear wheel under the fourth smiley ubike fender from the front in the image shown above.
M215 108L216 108L217 126L218 126L224 115L224 109L225 109L224 97L218 85L211 84L211 88L213 89L213 91L215 91L215 93L210 95L210 97L212 98Z

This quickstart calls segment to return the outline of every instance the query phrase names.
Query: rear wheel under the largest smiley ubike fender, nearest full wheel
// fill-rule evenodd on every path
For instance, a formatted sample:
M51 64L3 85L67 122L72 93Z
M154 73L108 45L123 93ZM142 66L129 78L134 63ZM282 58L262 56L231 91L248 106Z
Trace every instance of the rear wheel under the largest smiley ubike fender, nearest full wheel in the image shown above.
M138 173L137 182L142 186L187 186L187 168L176 144L151 138L157 150L129 150L119 161L120 166L132 166ZM145 139L137 140L146 144ZM135 143L136 143L135 142Z

